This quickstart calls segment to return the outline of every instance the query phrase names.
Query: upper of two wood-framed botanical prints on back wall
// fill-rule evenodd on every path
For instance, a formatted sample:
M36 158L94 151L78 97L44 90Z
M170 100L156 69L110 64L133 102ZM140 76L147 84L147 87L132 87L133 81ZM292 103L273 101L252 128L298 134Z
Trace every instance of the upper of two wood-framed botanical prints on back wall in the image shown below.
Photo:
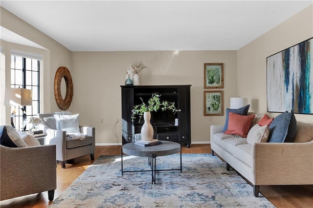
M204 63L204 89L224 88L224 63Z

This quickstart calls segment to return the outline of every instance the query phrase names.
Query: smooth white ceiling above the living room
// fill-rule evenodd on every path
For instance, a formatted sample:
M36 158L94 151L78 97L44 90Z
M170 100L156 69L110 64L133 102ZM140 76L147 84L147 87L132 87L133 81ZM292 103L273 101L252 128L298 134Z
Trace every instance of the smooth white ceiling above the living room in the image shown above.
M238 50L312 3L0 0L70 51Z

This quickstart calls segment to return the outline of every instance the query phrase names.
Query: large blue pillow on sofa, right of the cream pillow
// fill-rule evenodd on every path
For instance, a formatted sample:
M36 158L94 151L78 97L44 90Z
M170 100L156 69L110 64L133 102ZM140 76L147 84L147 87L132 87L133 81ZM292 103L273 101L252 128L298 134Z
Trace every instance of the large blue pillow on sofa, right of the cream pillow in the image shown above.
M293 112L288 113L287 111L285 111L284 113L276 116L274 121L269 125L268 142L270 143L285 142L289 130L289 124L291 123L291 117L294 117L294 115L293 116L292 115ZM294 122L293 120L291 125L291 135L289 137L295 135L294 126L296 126L296 122Z

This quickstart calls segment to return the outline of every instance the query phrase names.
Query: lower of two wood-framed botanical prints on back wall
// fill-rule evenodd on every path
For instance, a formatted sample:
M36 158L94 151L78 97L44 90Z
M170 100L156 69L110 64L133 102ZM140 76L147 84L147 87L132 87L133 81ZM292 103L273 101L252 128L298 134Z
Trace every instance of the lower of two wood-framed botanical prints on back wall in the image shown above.
M204 116L224 115L224 91L204 91Z

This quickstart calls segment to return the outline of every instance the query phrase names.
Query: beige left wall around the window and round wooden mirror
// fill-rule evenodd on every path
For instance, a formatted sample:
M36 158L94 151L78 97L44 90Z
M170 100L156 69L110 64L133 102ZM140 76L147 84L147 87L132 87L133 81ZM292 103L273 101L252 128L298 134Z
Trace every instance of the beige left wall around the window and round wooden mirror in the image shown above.
M60 43L54 41L50 37L46 36L41 31L37 30L30 24L16 17L12 13L8 12L4 8L0 7L0 25L5 27L6 29L32 41L35 42L47 50L42 50L44 55L44 87L42 96L44 97L44 112L54 112L60 110L54 99L54 91L53 91L53 83L54 83L54 75L56 70L60 66L66 66L71 71L70 65L70 57L71 52L61 45ZM3 41L1 41L1 44ZM22 50L24 52L29 53L37 53L37 49L29 46L21 46L19 44L8 43L7 48L5 50L6 56L6 79L9 79L10 75L8 74L10 68L10 49ZM9 60L9 61L8 61ZM7 84L6 84L7 85ZM8 85L7 85L8 86ZM2 107L2 106L1 106ZM44 113L43 112L43 113ZM9 122L9 121L6 121ZM7 123L9 124L9 123Z

